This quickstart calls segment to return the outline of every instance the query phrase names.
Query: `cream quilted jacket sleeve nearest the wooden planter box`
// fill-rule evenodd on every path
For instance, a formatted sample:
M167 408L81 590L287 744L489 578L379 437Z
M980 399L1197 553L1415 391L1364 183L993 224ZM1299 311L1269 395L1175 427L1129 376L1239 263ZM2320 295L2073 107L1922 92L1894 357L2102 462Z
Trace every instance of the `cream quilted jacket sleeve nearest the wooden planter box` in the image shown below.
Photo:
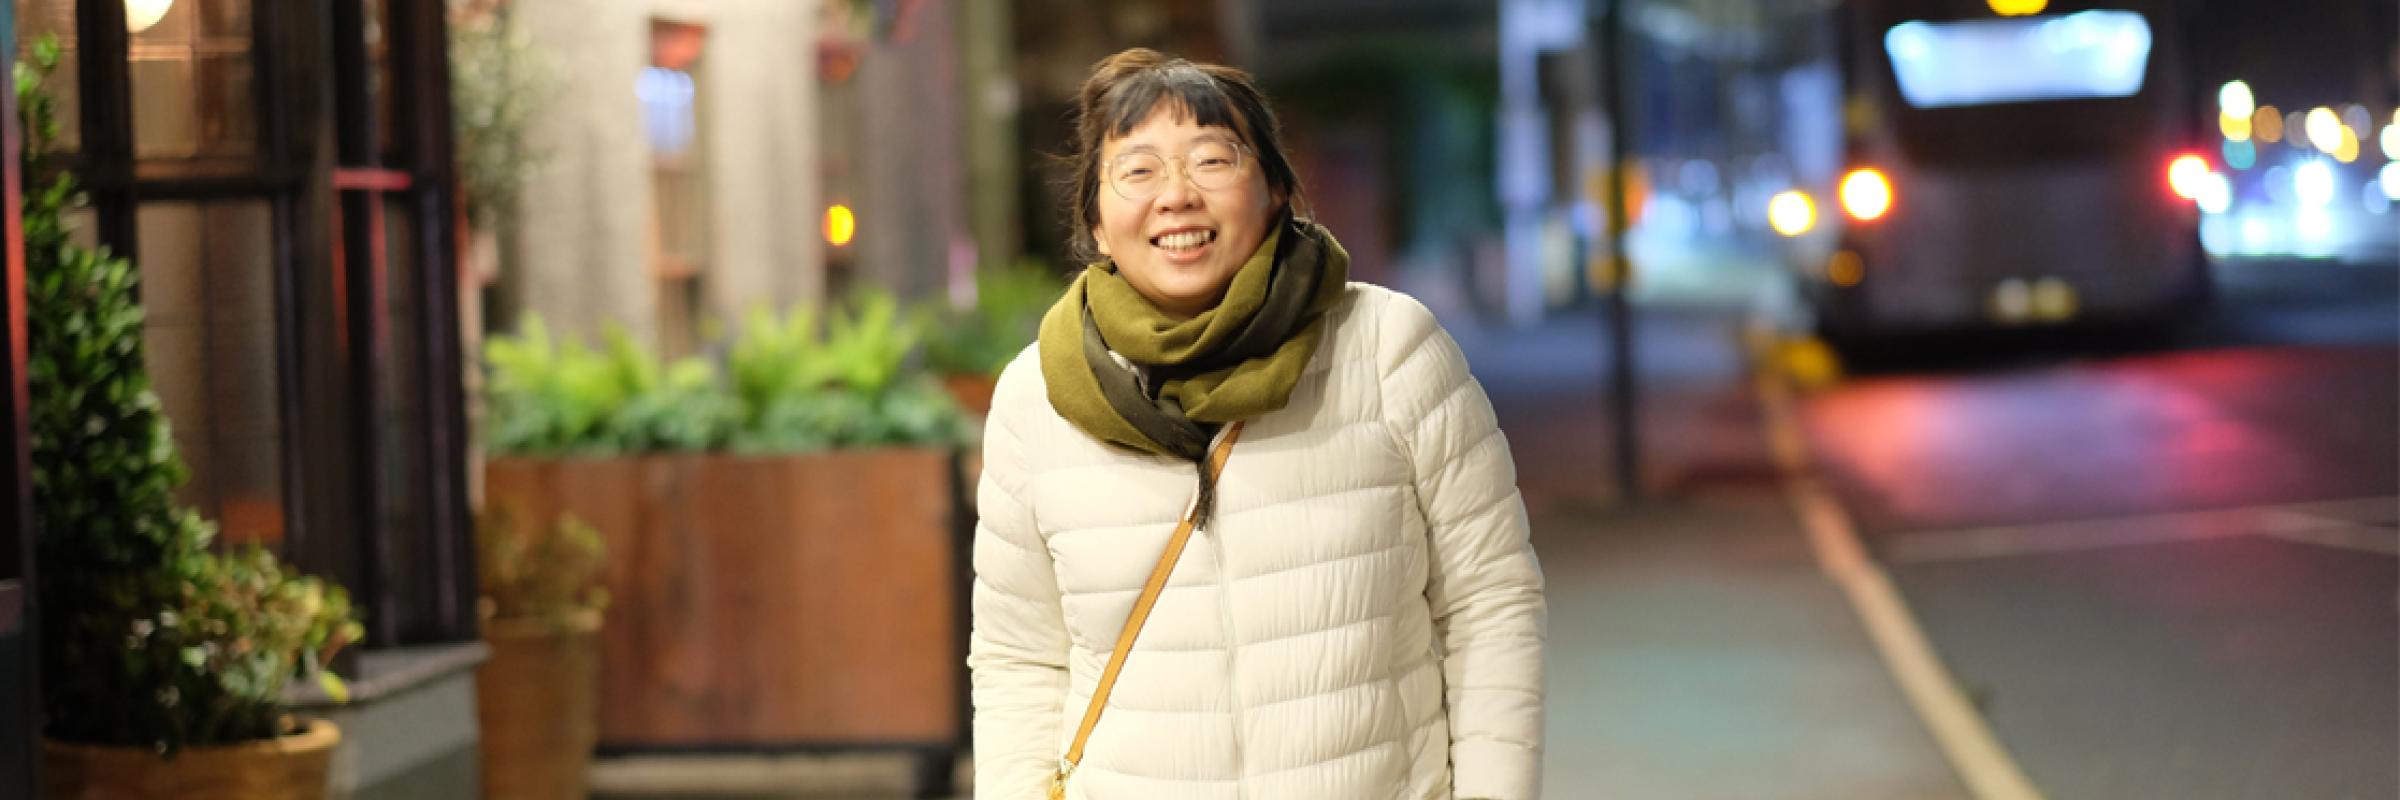
M984 423L984 476L974 492L974 798L1044 798L1058 764L1066 702L1066 615L1049 548L1025 505L1025 440L1010 428L1044 404L1032 353L1001 375Z

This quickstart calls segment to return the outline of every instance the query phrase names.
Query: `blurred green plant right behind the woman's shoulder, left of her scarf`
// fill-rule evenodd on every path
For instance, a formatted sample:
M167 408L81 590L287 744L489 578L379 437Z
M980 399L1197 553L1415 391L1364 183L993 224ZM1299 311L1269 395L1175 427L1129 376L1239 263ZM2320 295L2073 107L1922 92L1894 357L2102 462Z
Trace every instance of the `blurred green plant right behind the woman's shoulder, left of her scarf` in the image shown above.
M1066 291L1039 262L986 267L974 276L974 305L943 310L924 344L924 363L941 375L1001 375L1042 329L1042 312Z

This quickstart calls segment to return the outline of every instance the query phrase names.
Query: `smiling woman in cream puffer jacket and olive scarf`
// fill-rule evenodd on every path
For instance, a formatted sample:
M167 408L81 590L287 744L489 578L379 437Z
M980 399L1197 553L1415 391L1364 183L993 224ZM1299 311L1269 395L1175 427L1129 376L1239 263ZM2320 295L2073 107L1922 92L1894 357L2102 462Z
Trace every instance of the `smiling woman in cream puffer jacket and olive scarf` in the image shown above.
M977 798L1536 798L1541 569L1457 344L1346 281L1238 70L1102 60L1070 159L1097 262L984 432Z

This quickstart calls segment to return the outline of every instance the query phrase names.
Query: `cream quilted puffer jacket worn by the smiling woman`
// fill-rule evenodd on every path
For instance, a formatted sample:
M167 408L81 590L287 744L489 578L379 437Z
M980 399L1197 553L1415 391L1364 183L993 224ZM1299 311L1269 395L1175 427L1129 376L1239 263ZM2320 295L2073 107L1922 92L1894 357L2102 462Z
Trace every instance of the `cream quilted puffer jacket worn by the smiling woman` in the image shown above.
M1291 404L1250 420L1068 781L1070 798L1541 793L1543 586L1507 440L1414 298L1351 283ZM974 795L1044 798L1193 466L1001 375L974 533Z

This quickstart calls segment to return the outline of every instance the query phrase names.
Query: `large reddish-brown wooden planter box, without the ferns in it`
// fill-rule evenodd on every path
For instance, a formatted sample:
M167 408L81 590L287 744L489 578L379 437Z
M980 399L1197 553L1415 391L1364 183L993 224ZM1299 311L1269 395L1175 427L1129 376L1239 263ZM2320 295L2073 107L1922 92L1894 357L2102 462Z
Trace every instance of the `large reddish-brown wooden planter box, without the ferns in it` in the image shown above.
M494 459L487 492L607 541L600 750L965 738L948 449Z

